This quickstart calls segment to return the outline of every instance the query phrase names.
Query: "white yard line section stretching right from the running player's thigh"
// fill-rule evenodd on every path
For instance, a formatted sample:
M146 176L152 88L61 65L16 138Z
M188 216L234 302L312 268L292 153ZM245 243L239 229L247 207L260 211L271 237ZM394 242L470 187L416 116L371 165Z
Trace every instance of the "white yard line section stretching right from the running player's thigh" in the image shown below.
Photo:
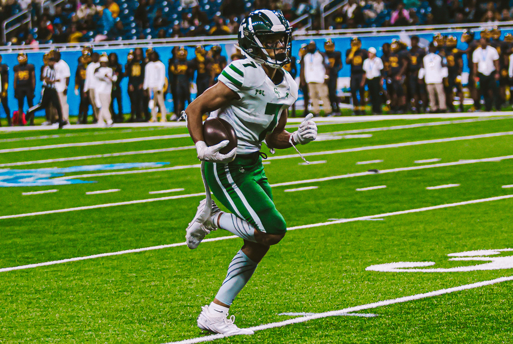
M513 159L513 155L503 156L503 157L495 157L495 158L484 158L484 159L473 159L473 160L464 160L464 161L455 161L455 162L444 162L440 164L432 164L432 165L421 165L421 166L411 166L411 167L398 167L398 168L391 168L391 169L382 169L379 171L379 174L384 173L393 173L393 172L401 172L401 171L412 171L417 169L426 169L426 168L435 168L435 167L446 167L446 166L457 166L457 165L465 165L465 164L474 164L478 162L495 162L495 161L501 161L501 160L507 160L507 159ZM340 176L331 176L331 177L324 177L324 178L315 178L315 179L305 179L305 180L298 180L294 182L284 182L284 183L277 183L277 184L271 184L271 186L288 186L288 185L297 185L297 184L306 184L306 183L316 183L316 182L325 182L328 180L336 180L336 179L344 179L344 178L352 178L352 177L361 177L361 176L370 176L370 175L376 175L374 172L359 172L359 173L349 173L346 175L340 175Z

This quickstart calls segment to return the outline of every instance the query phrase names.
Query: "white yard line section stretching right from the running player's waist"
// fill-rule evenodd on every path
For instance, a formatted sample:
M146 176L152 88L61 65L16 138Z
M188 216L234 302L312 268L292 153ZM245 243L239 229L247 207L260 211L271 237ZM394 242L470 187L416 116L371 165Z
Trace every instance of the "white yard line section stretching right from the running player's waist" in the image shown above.
M302 155L304 157L312 157L312 156L317 156L317 155L339 154L339 153L347 153L347 152L363 151L363 150L373 150L373 149L383 149L383 148L408 147L408 146L417 146L417 145L423 145L423 144L429 144L429 143L441 143L441 142L453 142L453 141L461 141L461 140L483 139L483 138L508 136L508 135L513 135L513 131L492 132L492 133L488 133L488 134L459 136L459 137L446 138L446 139L422 140L422 141L412 141L412 142L403 142L403 143L391 143L391 144L377 145L377 146L364 146L364 147L356 147L356 148L317 151L317 152L311 152L311 153L303 153ZM313 142L315 142L315 141L313 141ZM281 156L277 156L277 157L269 157L267 159L268 160L279 160L279 159L299 158L299 157L300 157L299 154L290 154L290 155L281 155Z

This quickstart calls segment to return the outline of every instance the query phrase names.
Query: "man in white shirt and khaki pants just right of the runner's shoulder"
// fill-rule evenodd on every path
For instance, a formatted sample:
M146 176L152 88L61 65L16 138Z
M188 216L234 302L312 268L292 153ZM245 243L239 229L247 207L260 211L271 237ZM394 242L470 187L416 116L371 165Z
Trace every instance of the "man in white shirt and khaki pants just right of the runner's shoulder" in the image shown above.
M326 55L317 50L315 42L310 41L301 66L300 80L302 84L306 83L308 85L313 116L320 116L319 100L322 100L325 116L332 114L328 98L328 85L325 83L328 67L329 62Z

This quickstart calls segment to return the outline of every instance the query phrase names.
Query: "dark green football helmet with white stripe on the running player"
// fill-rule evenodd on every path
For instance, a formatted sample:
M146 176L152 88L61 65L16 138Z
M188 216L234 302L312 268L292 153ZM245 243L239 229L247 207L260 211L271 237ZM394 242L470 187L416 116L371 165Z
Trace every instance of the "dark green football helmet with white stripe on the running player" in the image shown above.
M283 67L290 63L292 28L281 11L253 11L241 23L239 46L257 63L273 68ZM274 52L274 58L267 50ZM285 52L277 52L279 50Z

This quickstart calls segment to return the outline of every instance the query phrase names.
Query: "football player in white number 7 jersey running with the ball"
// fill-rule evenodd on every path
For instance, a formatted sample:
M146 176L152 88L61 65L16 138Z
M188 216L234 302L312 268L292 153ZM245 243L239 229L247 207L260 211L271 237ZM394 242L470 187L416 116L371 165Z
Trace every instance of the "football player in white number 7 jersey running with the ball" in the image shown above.
M195 249L217 228L244 239L213 302L202 307L198 327L207 331L224 335L253 333L235 326L234 316L228 318L228 311L270 246L280 242L287 230L264 173L262 142L269 148L285 149L317 138L311 115L297 131L285 130L287 109L298 97L298 85L282 69L290 62L291 37L292 29L281 12L251 12L239 28L239 46L245 59L224 68L218 82L185 111L198 158L203 161L206 183L231 212L222 212L213 201L201 201L187 228L187 245ZM203 114L218 109L218 117L233 126L238 138L238 146L228 154L220 153L228 141L207 147L203 138Z

